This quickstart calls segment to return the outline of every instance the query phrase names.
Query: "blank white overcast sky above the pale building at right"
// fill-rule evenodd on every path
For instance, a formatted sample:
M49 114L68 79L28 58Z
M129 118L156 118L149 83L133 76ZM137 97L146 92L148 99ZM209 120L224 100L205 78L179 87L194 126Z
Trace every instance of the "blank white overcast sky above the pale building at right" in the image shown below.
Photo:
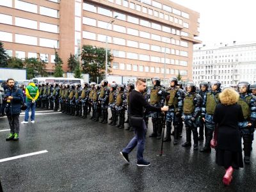
M256 0L171 0L200 13L203 44L256 42Z

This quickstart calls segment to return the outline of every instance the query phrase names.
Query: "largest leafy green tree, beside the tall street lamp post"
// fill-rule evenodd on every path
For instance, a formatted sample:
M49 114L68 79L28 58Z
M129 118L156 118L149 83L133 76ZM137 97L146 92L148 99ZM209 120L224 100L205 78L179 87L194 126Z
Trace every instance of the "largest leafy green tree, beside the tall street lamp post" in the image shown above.
M83 72L89 74L91 81L97 81L105 74L106 49L83 45L81 59L83 61ZM108 50L108 68L110 66L111 53ZM111 72L108 70L108 72Z

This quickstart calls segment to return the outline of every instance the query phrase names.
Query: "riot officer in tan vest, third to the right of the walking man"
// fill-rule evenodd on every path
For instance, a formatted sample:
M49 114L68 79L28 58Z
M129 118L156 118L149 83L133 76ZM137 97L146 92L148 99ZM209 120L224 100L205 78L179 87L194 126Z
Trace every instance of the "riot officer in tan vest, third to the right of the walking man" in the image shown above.
M196 93L196 84L191 82L186 85L186 95L183 103L182 119L186 125L186 142L182 147L191 146L191 131L193 132L194 150L198 150L199 115L202 106L202 97Z

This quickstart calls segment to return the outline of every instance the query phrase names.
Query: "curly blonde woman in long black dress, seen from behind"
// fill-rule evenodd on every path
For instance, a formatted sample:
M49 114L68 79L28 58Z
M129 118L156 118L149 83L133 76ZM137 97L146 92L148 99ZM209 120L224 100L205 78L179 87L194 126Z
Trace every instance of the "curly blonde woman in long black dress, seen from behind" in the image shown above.
M224 166L223 184L229 185L234 169L243 168L241 135L238 122L242 122L243 111L237 100L239 94L231 88L220 93L221 103L216 106L213 121L218 124L216 163Z

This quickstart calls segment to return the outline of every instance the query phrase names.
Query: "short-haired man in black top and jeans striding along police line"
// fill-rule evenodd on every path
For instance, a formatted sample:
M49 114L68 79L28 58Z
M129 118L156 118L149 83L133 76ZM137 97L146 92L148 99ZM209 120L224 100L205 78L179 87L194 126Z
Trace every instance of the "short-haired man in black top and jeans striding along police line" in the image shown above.
M124 157L125 161L129 163L128 154L132 151L134 147L138 144L137 147L137 166L149 166L150 162L145 161L143 159L143 151L145 145L145 135L147 131L147 127L145 121L143 119L144 108L148 109L148 111L168 111L168 106L164 106L163 108L154 107L148 102L145 101L142 93L145 91L146 81L144 79L138 79L136 81L136 88L132 90L129 97L129 109L131 115L131 125L132 125L132 116L141 117L141 127L134 127L135 136L129 142L129 144L120 152L122 157Z

